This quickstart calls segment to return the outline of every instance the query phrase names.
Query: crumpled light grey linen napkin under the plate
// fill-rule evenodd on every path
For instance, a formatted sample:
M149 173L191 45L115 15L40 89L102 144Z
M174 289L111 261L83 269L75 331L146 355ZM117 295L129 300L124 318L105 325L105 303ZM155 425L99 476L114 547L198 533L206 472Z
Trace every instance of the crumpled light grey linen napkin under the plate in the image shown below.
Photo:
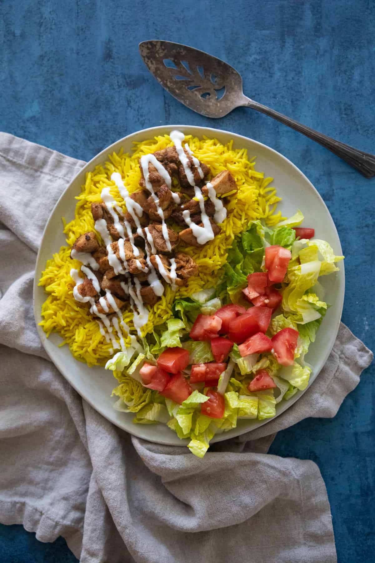
M372 360L341 324L305 394L204 459L113 426L40 344L32 306L49 213L82 161L0 133L0 521L82 562L336 561L326 487L311 461L266 454L275 432L333 417Z

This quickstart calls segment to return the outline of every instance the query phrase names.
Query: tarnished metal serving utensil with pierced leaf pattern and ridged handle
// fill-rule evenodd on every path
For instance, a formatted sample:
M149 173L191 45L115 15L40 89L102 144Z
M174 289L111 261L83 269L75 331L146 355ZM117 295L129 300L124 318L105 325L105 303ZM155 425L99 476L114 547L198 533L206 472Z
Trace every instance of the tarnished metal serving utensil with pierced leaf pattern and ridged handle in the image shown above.
M374 155L335 141L246 97L242 92L240 74L227 62L170 41L143 41L139 43L139 52L161 86L197 113L206 117L223 117L238 106L256 109L317 141L366 178L375 176Z

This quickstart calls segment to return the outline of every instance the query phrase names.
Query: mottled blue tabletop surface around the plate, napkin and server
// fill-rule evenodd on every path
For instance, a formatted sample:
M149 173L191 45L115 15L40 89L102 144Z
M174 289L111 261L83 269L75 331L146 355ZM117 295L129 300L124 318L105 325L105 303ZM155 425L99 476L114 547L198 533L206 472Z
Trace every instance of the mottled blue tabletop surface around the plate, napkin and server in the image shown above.
M144 39L201 48L230 62L250 97L375 153L373 0L2 0L0 12L3 131L84 160L165 123L228 129L280 151L328 205L346 256L342 319L374 350L375 178L254 111L193 113L138 55ZM374 557L374 372L373 364L335 419L300 422L272 446L318 463L340 563ZM0 526L0 553L6 563L76 561L61 538L42 544L21 526Z

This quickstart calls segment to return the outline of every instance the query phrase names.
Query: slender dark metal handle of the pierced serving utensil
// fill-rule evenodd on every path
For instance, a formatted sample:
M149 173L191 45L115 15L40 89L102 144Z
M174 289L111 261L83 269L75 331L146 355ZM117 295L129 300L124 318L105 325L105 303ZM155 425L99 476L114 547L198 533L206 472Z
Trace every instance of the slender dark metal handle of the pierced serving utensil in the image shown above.
M317 141L319 145L324 146L326 149L330 150L331 153L336 154L338 157L342 158L342 160L345 160L345 162L350 164L350 166L353 166L353 168L358 170L366 178L372 178L375 176L375 156L373 154L364 153L362 150L355 149L353 146L336 141L332 137L328 137L327 135L323 135L323 133L314 131L314 129L306 127L305 125L302 125L302 123L299 123L294 119L275 111L274 109L268 108L263 104L258 104L258 102L255 102L254 100L249 100L246 103L246 106L248 108L256 109L261 113L265 113L266 115L270 115L270 117L277 119L281 123L284 123L284 125L299 131L313 141Z

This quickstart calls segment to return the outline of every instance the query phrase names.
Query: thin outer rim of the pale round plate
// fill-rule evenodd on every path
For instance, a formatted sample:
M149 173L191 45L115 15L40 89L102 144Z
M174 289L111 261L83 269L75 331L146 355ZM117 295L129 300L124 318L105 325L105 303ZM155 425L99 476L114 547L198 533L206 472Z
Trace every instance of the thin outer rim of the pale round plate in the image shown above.
M121 428L121 430L124 430L125 432L129 432L129 434L138 437L139 439L145 439L144 435L142 435L141 432L138 432L138 425L135 425L132 423L132 431L130 431L128 428L124 428L123 425L120 424L120 422L116 421L115 419L111 419L109 418L109 416L103 412L103 409L101 409L100 406L97 406L96 404L93 404L93 401L91 401L91 399L88 399L87 396L84 395L84 393L79 390L75 383L74 383L74 378L70 378L66 373L64 373L64 368L61 366L60 367L60 361L53 359L52 356L49 354L48 350L47 350L47 336L46 333L44 333L44 330L42 327L39 326L39 322L41 319L41 315L40 315L40 311L37 310L37 304L36 304L36 293L38 291L39 285L39 271L43 271L40 270L40 255L42 253L42 248L43 248L43 241L44 241L44 236L46 234L46 231L48 229L48 226L50 224L50 222L52 221L53 216L55 215L56 209L58 208L62 198L64 197L65 193L67 190L70 189L70 186L77 180L77 178L80 175L85 175L85 173L87 171L90 171L90 168L94 166L94 161L106 158L108 156L108 154L114 150L114 147L116 145L119 145L123 142L127 142L129 141L130 137L135 137L137 135L140 134L151 134L153 133L152 136L156 136L156 135L164 135L165 134L165 129L169 129L169 131L173 130L173 129L183 129L183 131L185 130L189 130L189 129L195 129L198 131L201 131L201 136L202 135L206 135L206 132L209 131L210 133L213 134L213 136L215 136L216 133L223 133L224 135L230 135L233 139L236 138L237 140L245 140L246 142L252 142L257 146L261 146L262 148L265 148L268 151L271 151L271 153L274 153L275 155L277 155L279 158L281 158L282 160L284 160L284 162L286 162L288 164L288 166L291 166L294 171L297 173L297 175L300 175L305 182L307 182L307 184L309 185L309 188L313 190L313 193L315 196L317 196L320 204L323 205L323 207L326 209L326 212L328 213L329 218L331 219L332 222L332 227L333 230L336 233L337 236L337 240L338 240L338 245L339 248L337 249L338 252L340 252L342 254L342 247L341 247L341 241L340 241L340 237L338 236L338 232L336 229L336 225L335 225L335 221L333 221L333 218L331 216L331 213L329 212L329 209L326 205L326 203L324 202L322 196L319 194L318 190L315 188L315 186L312 184L312 182L309 180L309 178L296 166L296 164L294 164L290 159L288 159L287 157L285 157L283 154L279 153L277 150L273 149L272 147L265 145L264 143L260 142L260 141L256 141L255 139L251 138L251 137L246 137L245 135L240 135L239 133L234 133L232 131L227 131L226 129L218 129L218 128L214 128L214 127L205 127L205 126L196 126L196 125L183 125L183 124L164 124L164 125L159 125L159 126L153 126L153 127L148 127L146 129L139 129L138 131L134 131L132 133L129 133L129 135L126 135L125 137L121 137L120 139L118 139L117 141L111 143L111 145L107 146L106 148L102 149L100 151L100 153L97 153L96 155L94 155L94 157L92 159L90 159L79 171L78 173L76 173L76 175L74 176L74 178L72 178L72 180L69 182L69 184L66 186L65 190L62 191L60 197L58 198L56 204L53 206L53 209L51 211L51 213L49 214L48 220L46 222L46 225L43 229L43 234L42 237L40 239L40 246L38 249L38 254L37 254L37 260L35 262L35 275L34 275L34 282L33 282L33 312L34 312L34 319L35 319L35 324L37 325L37 331L38 331L38 336L40 338L40 341L42 342L43 348L46 351L48 358L51 359L53 365L55 365L55 367L58 369L58 371L61 373L61 375L67 380L67 382L74 388L74 390L76 392L78 392L78 394L85 400L87 401L87 403L89 405L92 406L92 408L94 410L96 410L98 413L100 413L103 417L105 417L109 422L111 422L112 424L114 424L115 426ZM205 131L205 133L203 133L203 131ZM188 133L187 133L188 134ZM197 134L198 133L193 133L193 134ZM267 418L263 421L257 421L256 424L256 428L242 428L242 427L236 427L233 428L231 431L229 432L223 432L222 434L217 434L213 437L213 439L210 440L210 444L214 444L215 442L220 442L220 441L224 441L224 440L229 440L232 437L236 437L236 436L241 436L242 434L246 434L247 432L251 432L252 430L256 430L257 428L260 428L261 426L264 426L266 423L274 421L275 418L277 418L279 415L283 414L286 410L288 410L294 403L296 403L297 400L300 399L300 397L310 388L311 385L313 385L315 379L318 377L320 371L322 370L322 368L324 367L324 364L326 364L326 361L328 359L329 354L331 354L333 345L335 344L335 340L337 337L337 333L338 333L338 329L340 328L340 322L341 322L341 317L342 317L342 309L344 307L344 297L345 297L345 266L344 266L344 262L341 262L340 265L340 270L342 271L342 293L340 294L340 303L339 303L339 307L340 307L340 312L337 315L337 321L336 321L336 325L335 328L331 331L331 345L328 348L328 351L326 352L326 354L324 355L324 358L322 360L320 360L320 368L319 370L315 373L314 378L309 381L309 385L303 390L303 391L299 391L297 392L297 394L293 397L291 397L290 400L288 400L288 403L286 404L286 407L283 410L280 410L279 412L277 412L275 414L275 416L273 418ZM60 335L58 335L60 336ZM51 342L51 341L49 341ZM70 353L70 351L69 351ZM73 359L74 356L72 356ZM75 360L78 361L78 360ZM133 428L134 427L134 428ZM162 445L170 445L170 446L179 446L179 445L186 445L188 443L188 439L186 440L179 440L179 443L175 443L175 442L171 442L168 440L163 440L163 439L155 439L154 437L148 437L147 440L151 441L152 443L155 444L162 444Z

